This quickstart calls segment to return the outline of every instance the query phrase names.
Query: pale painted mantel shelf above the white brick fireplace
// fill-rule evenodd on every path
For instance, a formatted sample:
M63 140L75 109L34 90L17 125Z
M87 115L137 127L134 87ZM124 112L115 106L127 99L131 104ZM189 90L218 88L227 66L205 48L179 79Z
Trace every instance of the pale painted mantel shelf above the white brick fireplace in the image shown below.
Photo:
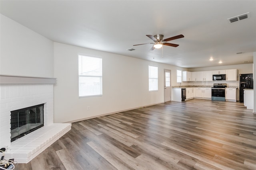
M56 78L12 76L0 74L0 84L55 84Z

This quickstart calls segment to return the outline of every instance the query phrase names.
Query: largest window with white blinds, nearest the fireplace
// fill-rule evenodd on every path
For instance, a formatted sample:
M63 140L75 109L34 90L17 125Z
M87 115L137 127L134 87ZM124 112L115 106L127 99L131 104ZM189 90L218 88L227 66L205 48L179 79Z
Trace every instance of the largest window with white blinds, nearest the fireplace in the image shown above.
M102 95L102 59L78 55L79 97Z

